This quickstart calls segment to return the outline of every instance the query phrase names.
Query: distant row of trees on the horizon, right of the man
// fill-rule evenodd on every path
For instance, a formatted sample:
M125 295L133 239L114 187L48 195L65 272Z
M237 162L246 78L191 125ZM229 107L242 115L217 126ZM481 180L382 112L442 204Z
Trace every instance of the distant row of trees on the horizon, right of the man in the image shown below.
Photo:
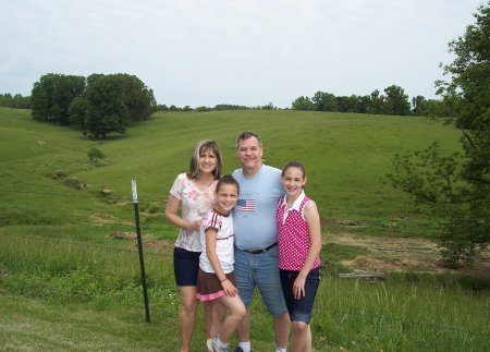
M421 95L412 98L411 104L405 90L397 85L387 87L384 94L375 89L365 96L335 96L319 90L311 98L301 96L292 102L293 110L396 116L427 116L441 108L440 100L426 99Z

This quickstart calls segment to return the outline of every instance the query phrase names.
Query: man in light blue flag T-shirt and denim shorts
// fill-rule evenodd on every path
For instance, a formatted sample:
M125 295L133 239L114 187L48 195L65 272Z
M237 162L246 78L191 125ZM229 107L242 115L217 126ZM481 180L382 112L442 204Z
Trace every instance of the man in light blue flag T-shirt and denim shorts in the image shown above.
M284 194L281 170L262 165L262 142L253 132L236 139L236 157L242 166L233 172L240 183L240 196L233 210L235 231L235 277L240 298L247 312L238 326L235 352L250 349L250 303L259 288L269 313L273 316L275 352L285 352L290 316L279 278L278 228L275 210Z

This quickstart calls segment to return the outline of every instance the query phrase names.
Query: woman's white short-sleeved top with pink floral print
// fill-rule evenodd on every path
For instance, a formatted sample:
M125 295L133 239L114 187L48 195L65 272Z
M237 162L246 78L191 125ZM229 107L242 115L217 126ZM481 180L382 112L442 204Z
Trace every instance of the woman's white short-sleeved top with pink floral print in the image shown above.
M185 173L176 177L170 194L181 201L182 219L199 222L203 220L212 208L217 183L218 180L215 180L209 187L201 191ZM191 252L201 252L199 231L180 229L175 246Z

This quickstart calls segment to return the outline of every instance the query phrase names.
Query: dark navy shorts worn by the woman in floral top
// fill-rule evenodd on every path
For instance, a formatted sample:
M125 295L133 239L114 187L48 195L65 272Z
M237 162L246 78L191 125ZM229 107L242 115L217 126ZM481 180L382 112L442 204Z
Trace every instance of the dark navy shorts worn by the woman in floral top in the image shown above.
M200 252L173 247L173 272L177 286L197 286Z

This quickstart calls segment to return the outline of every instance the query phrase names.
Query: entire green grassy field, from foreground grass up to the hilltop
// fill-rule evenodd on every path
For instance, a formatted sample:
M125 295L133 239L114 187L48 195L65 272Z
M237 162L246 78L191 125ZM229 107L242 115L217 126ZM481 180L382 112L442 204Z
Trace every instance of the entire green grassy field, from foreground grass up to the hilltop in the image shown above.
M157 113L126 135L100 142L33 121L28 110L0 109L0 350L177 351L170 252L175 229L164 221L164 202L200 139L219 143L225 173L237 168L234 139L244 130L262 136L266 163L304 162L324 243L342 231L380 241L437 231L437 219L383 183L395 153L434 141L448 154L460 148L457 131L421 118L289 110ZM91 147L103 151L108 166L89 163ZM135 231L133 179L144 240L152 244L145 250L151 324L145 323L135 240L114 240ZM487 290L470 291L475 283L449 274L399 274L377 284L340 280L334 263L368 251L327 247L322 260L329 265L313 321L316 351L489 350ZM255 351L270 351L270 320L260 301L253 309ZM203 351L203 343L199 319L195 351Z

